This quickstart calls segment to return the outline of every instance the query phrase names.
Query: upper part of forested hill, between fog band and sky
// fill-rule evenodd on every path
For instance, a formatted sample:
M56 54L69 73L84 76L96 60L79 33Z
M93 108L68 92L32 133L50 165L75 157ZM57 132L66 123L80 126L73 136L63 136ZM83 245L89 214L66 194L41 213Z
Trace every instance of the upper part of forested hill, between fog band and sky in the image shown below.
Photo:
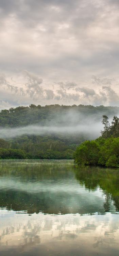
M33 105L29 107L19 106L9 110L0 111L0 127L17 127L31 124L46 125L49 122L54 124L68 124L68 122L82 122L85 118L102 119L102 115L112 117L118 115L119 107L112 106L91 106L91 105ZM75 118L74 118L75 114ZM71 116L72 115L72 116ZM73 117L73 118L72 118ZM83 120L82 120L83 119Z

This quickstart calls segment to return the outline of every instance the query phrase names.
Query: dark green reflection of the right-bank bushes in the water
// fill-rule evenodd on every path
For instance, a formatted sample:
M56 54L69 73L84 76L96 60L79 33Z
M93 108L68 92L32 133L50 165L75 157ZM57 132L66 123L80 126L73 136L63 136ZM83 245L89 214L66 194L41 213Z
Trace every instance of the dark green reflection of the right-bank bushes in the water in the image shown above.
M113 201L116 211L119 211L119 170L99 167L77 167L75 177L81 185L89 191L95 191L98 187L104 191L105 202L103 204L105 212L109 212L111 201Z

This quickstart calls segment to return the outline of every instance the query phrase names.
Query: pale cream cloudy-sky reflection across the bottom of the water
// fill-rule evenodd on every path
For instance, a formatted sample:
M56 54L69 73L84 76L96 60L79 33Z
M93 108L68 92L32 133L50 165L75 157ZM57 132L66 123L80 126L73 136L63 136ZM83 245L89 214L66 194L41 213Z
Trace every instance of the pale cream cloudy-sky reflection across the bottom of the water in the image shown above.
M84 255L118 255L118 215L53 216L40 213L29 216L6 210L0 214L1 252L10 253L12 248L17 255L31 251L38 255L37 250L41 250L43 255L64 255L64 250L66 255L78 252ZM72 250L74 254L71 254Z

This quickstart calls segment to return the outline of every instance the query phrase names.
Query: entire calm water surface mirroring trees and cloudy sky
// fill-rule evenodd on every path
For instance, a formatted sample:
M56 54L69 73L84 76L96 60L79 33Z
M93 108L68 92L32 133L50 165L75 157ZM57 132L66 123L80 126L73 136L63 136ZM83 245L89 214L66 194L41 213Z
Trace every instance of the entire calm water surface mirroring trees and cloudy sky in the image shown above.
M0 161L0 255L119 255L119 170Z

